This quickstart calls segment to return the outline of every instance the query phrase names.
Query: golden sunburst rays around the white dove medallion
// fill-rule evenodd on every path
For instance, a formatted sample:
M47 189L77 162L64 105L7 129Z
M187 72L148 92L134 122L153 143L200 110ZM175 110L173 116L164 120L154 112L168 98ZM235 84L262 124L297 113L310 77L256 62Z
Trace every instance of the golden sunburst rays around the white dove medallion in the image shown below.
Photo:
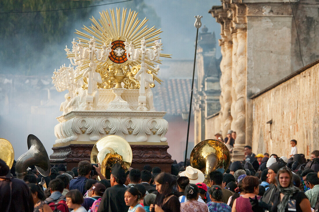
M93 16L90 18L92 21L91 26L84 26L82 29L83 32L76 30L76 34L81 37L77 37L78 41L82 43L83 47L88 47L90 39L94 36L96 40L95 45L96 48L101 48L104 43L109 44L116 40L125 41L126 39L134 44L135 48L141 47L141 40L144 38L146 42L146 47L150 48L155 45L156 41L159 41L159 34L162 32L160 29L156 29L155 26L148 27L146 22L148 21L146 18L143 20L137 17L138 12L131 11L127 12L127 9L116 8L116 13L114 9L109 9L106 11L100 12L100 19L95 19ZM168 57L168 54L160 54L161 57ZM74 57L74 54L68 54L67 56ZM110 58L106 62L98 62L95 61L102 66L107 64L112 64L113 61ZM89 67L90 61L84 61L79 67L80 69L85 69ZM123 67L124 65L128 65L129 69L132 66L136 66L141 64L141 55L139 60L136 62L131 62L129 60L120 63L117 62L118 67ZM119 64L120 63L120 64ZM161 60L158 62L152 62L145 57L145 63L147 65L148 70L150 70L153 74L154 80L157 82L162 82L156 75L158 74L157 69L155 68L155 63L161 64Z

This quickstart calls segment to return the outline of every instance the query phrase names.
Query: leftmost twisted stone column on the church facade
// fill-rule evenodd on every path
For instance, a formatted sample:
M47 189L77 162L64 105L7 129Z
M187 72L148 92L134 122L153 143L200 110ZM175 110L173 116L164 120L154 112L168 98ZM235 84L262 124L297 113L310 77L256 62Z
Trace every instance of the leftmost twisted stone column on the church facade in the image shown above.
M230 108L232 105L232 42L230 40L226 41L224 44L225 48L225 59L223 61L224 73L222 90L223 99L224 99L224 108L223 108L223 128L222 135L226 136L227 131L230 129L232 123L232 116L230 114Z

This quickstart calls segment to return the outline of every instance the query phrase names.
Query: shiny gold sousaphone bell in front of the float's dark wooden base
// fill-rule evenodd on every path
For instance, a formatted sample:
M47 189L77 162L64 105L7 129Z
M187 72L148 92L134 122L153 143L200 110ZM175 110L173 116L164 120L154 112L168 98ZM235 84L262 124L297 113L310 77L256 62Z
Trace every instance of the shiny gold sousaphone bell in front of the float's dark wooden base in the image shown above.
M132 159L130 144L118 135L104 136L95 143L91 152L91 163L101 164L101 173L106 179L110 179L111 168L115 163L121 164L124 171L127 172Z

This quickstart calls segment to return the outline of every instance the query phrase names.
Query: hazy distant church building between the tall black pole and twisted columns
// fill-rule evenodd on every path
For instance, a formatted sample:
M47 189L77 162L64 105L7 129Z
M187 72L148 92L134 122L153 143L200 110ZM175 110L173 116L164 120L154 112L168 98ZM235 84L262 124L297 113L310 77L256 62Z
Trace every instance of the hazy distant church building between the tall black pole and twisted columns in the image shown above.
M216 36L203 26L197 43L197 85L194 85L195 144L205 140L209 117L220 110L220 59L216 58ZM196 87L195 87L196 86Z

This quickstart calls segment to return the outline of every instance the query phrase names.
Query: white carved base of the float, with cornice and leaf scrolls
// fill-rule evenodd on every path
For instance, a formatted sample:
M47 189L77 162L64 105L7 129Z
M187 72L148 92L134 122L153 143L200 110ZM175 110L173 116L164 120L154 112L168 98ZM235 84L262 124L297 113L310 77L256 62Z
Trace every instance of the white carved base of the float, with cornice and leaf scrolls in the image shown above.
M128 142L166 142L166 112L72 111L57 117L56 144L70 141L95 143L106 135L119 135Z

